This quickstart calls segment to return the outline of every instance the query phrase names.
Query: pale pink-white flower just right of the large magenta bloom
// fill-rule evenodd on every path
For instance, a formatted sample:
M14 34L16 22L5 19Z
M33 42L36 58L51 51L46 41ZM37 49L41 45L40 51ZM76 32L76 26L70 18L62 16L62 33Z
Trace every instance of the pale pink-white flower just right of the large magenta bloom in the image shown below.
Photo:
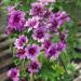
M25 26L37 28L38 24L39 24L39 17L33 16L32 18L28 18L28 21L26 22Z

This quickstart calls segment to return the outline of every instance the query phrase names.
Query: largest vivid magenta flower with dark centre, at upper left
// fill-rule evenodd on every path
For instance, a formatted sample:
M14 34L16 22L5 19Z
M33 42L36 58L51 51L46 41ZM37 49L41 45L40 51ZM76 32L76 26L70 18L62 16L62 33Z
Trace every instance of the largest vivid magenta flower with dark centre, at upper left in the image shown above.
M9 13L9 27L14 30L22 31L25 29L25 13L19 10L13 10Z

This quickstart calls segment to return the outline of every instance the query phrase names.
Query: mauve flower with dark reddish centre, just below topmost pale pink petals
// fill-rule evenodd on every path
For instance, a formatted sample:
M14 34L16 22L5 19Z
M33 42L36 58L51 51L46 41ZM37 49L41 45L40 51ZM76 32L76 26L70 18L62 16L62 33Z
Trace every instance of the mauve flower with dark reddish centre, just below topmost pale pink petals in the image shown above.
M40 2L33 2L31 6L30 15L42 16L45 13L44 5Z

